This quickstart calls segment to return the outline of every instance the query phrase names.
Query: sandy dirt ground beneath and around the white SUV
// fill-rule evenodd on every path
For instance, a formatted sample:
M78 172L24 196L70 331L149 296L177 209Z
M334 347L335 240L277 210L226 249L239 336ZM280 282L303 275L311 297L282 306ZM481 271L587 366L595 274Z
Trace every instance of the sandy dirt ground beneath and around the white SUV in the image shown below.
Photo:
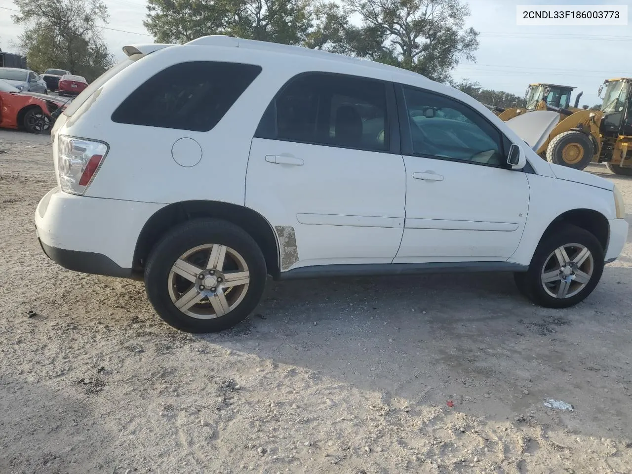
M191 336L42 253L50 148L0 131L0 473L632 471L632 236L568 310L510 274L295 281Z

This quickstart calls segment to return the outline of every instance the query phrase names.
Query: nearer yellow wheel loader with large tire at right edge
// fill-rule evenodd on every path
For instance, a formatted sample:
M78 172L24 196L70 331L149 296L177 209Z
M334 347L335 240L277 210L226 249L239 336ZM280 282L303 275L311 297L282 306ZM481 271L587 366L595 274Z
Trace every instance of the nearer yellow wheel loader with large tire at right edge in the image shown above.
M600 110L547 104L546 109L557 112L559 119L554 119L535 152L549 162L575 169L605 162L613 173L632 176L631 89L632 78L605 80L599 88L604 100Z

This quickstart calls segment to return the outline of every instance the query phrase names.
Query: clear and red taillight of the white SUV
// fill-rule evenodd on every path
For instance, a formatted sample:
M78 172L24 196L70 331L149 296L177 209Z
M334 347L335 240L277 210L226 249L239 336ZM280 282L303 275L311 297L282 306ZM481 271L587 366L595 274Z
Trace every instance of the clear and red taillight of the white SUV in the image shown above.
M59 185L66 193L83 194L107 155L107 144L58 135Z

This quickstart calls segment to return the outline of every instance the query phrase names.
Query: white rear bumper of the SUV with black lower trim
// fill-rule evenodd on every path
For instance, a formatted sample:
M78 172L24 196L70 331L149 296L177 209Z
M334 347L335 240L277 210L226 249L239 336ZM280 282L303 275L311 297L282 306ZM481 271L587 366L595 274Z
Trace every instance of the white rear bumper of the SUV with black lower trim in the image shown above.
M35 210L42 250L78 272L133 277L133 257L145 222L164 204L93 198L54 188Z

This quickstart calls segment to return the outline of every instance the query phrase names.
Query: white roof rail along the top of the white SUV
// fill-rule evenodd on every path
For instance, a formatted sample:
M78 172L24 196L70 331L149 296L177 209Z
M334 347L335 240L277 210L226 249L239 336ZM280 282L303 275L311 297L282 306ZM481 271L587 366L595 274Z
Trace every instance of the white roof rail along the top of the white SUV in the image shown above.
M200 38L189 41L185 44L193 44L198 46L224 46L224 47L238 47L245 49L261 49L264 51L276 51L284 52L286 54L298 54L299 56L317 56L329 61L343 61L349 63L362 64L363 66L369 66L384 70L398 69L395 66L389 66L389 64L382 64L372 61L371 59L353 58L352 56L344 56L344 54L337 54L334 52L321 51L320 49L309 49L302 46L290 46L288 44L271 43L267 41L258 41L243 38L233 38L224 35L209 35L202 36Z

